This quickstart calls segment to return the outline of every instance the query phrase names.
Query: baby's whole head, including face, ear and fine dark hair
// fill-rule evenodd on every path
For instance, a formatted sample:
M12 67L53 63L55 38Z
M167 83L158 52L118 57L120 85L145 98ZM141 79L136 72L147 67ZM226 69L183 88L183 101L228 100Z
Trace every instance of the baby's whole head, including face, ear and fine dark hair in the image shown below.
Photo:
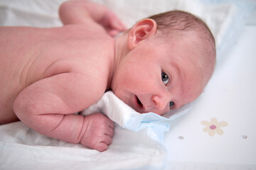
M112 91L139 113L159 115L195 100L215 67L215 40L191 13L145 18L116 40Z

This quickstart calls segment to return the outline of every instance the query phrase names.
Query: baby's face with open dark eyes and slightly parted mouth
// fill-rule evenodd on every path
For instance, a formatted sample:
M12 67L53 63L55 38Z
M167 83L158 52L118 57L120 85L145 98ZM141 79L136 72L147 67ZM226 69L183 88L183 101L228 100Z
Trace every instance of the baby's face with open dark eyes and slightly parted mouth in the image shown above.
M176 38L145 40L120 62L112 91L139 113L159 115L195 100L203 90L195 45Z

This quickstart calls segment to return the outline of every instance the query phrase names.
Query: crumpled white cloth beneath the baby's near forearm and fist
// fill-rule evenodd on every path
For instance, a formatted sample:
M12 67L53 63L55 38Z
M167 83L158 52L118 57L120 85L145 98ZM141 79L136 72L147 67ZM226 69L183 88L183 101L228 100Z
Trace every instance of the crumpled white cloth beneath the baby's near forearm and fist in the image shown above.
M119 126L106 152L54 140L21 122L1 125L0 132L1 169L159 169L166 157L164 147L144 130Z

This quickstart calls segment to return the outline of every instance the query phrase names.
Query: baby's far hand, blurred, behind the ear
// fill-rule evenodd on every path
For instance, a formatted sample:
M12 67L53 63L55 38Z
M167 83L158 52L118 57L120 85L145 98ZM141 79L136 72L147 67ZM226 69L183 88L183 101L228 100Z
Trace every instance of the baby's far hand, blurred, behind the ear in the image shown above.
M105 30L107 30L107 33L112 37L126 30L126 27L119 18L117 18L117 16L108 9L106 10L105 16L98 21L98 23L100 23L100 25L103 26Z

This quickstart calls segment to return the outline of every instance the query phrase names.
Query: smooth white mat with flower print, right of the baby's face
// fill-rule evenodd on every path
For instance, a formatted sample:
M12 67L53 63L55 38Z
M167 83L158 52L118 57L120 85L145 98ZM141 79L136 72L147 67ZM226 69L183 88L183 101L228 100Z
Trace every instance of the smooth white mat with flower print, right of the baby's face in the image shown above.
M255 44L256 26L245 26L191 111L171 125L165 138L169 166L256 169ZM203 131L202 121L212 118L227 123L222 135Z

